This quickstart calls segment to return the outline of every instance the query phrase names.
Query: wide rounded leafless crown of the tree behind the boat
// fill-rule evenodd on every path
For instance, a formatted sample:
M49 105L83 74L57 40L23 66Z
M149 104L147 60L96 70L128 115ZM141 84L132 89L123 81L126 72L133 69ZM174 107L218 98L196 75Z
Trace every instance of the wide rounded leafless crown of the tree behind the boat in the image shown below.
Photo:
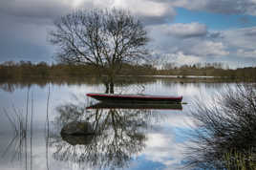
M129 11L75 11L57 19L54 26L50 34L51 42L60 47L57 58L93 65L111 82L123 63L138 61L147 53L147 32Z

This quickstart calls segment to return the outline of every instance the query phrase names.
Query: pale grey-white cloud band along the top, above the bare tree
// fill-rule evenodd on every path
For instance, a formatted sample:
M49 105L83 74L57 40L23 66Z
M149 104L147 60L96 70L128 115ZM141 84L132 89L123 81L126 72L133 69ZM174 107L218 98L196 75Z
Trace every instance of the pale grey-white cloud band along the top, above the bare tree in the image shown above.
M7 15L53 20L57 16L67 14L75 9L90 10L93 8L110 9L119 8L129 10L142 19L152 18L160 22L171 20L176 12L172 6L163 2L148 0L22 0L22 1L1 1L0 11ZM155 17L155 18L154 18ZM148 23L150 23L147 20Z

